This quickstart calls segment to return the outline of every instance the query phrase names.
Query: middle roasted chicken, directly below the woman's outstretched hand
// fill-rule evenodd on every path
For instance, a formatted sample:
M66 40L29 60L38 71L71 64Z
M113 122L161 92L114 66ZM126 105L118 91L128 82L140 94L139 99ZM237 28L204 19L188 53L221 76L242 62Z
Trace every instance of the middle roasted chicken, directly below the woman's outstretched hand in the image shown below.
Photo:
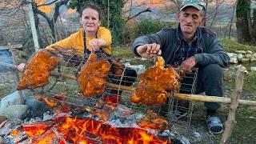
M78 85L82 94L86 97L100 95L105 90L106 75L110 70L110 62L97 58L91 52L87 62L78 72Z

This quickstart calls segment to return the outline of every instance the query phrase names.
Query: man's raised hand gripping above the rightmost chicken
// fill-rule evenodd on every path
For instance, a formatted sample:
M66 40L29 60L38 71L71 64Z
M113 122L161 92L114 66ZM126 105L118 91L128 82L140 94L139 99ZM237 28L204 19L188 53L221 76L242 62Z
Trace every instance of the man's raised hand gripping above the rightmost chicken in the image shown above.
M161 55L160 45L157 43L146 44L137 47L137 53L143 58L153 58L155 55Z

